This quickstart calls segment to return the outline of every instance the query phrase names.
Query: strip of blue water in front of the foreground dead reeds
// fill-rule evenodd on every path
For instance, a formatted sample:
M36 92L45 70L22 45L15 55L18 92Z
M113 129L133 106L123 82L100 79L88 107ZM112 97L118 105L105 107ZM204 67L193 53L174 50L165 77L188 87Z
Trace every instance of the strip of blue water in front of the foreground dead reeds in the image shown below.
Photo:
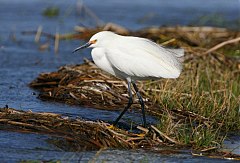
M11 139L9 139L11 137ZM1 162L17 162L23 160L58 160L61 162L230 162L228 160L210 159L190 156L187 152L177 154L159 154L143 150L103 150L87 152L66 152L44 140L46 135L21 134L0 131ZM31 142L31 143L26 143Z

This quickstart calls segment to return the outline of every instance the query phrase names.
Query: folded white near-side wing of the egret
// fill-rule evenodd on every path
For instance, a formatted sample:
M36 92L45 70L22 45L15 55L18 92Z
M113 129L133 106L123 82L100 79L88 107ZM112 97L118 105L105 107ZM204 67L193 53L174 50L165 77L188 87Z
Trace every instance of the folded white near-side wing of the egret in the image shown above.
M106 57L113 67L129 76L177 78L180 75L181 69L172 61L151 53L146 48L108 48Z

